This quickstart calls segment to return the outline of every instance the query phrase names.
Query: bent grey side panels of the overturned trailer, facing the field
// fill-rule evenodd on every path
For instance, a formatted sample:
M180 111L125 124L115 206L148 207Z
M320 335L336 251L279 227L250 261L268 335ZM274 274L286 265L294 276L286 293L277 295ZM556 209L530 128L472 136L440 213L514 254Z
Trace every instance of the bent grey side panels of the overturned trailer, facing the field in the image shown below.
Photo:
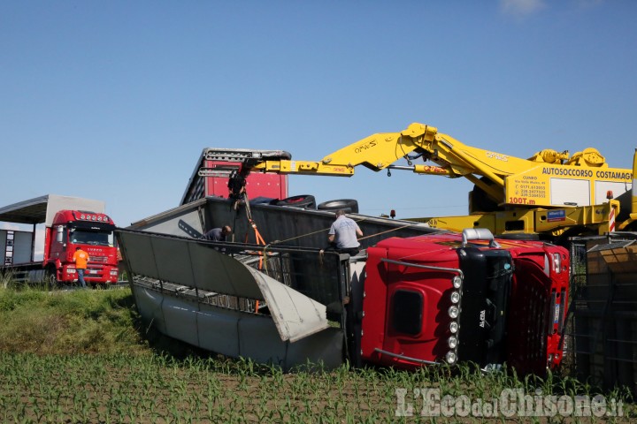
M244 263L254 256L198 239L117 232L137 308L160 332L284 368L342 363L342 330L329 328L326 306Z

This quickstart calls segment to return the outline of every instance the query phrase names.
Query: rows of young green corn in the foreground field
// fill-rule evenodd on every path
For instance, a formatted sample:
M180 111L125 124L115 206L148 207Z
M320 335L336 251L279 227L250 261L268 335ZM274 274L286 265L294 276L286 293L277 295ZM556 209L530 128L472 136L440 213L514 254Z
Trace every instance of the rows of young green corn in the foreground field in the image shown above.
M310 364L309 364L310 365ZM397 391L437 388L442 395L497 398L507 388L568 396L592 395L572 379L519 379L470 367L418 372L343 366L282 373L245 360L165 355L0 357L0 420L65 423L435 422L416 413L397 417ZM621 397L621 393L611 394ZM607 395L609 396L609 395ZM626 409L629 422L634 411ZM440 420L440 419L438 419ZM480 422L468 417L466 422ZM512 418L507 422L527 422ZM588 420L588 419L587 419ZM538 421L540 422L540 421Z

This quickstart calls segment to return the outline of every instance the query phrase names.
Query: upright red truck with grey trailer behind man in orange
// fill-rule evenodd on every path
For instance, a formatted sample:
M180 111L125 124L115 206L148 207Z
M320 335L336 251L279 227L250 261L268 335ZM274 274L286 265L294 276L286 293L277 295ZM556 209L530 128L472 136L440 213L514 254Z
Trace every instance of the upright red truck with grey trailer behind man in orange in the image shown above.
M48 194L0 208L0 271L17 282L77 281L73 262L76 247L88 253L84 279L88 284L115 284L119 278L115 223L104 214L104 202ZM44 224L43 243L36 241L36 225ZM19 231L15 224L32 224ZM42 254L42 260L36 256Z

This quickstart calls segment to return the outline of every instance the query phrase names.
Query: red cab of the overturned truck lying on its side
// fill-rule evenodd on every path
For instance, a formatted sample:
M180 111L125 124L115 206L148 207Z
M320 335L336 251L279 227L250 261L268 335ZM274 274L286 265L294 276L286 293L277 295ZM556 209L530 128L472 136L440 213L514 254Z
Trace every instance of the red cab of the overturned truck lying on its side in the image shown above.
M380 241L367 248L361 360L541 375L562 360L568 264L563 247L474 229Z

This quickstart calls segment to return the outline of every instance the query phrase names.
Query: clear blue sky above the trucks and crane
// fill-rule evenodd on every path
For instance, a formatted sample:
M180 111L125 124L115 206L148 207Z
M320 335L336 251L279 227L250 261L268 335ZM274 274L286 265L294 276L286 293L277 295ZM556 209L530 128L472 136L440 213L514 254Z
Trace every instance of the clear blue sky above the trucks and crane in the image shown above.
M323 156L412 122L529 157L630 168L637 3L0 2L0 206L106 202L120 226L178 206L203 148ZM289 179L362 213L464 215L464 179Z

